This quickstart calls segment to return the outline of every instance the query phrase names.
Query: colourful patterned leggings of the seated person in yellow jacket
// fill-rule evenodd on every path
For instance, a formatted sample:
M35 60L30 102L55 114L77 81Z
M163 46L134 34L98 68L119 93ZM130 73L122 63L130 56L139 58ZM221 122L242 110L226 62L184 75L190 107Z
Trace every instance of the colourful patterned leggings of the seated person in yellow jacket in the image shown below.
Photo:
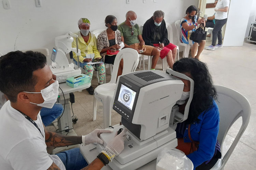
M99 71L99 84L103 84L105 74L106 74L105 65L102 62L102 63L95 64L95 67ZM85 69L85 74L90 77L90 81L91 81L91 79L93 78L93 65L86 64L84 65L84 69Z

